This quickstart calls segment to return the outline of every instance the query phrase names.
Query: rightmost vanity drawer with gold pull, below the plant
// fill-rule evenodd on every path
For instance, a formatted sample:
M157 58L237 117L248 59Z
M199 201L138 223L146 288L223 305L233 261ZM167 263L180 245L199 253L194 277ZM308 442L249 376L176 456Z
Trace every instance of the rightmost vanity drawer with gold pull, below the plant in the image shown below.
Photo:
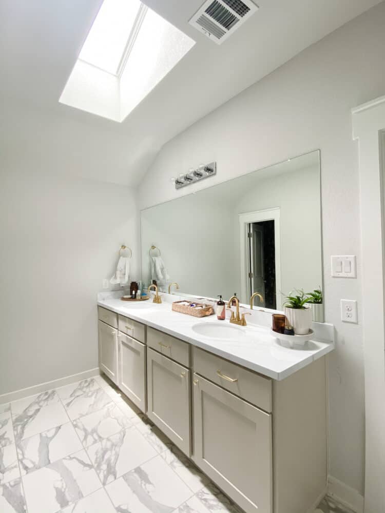
M200 349L193 348L194 372L235 393L265 411L272 411L272 380L240 365Z

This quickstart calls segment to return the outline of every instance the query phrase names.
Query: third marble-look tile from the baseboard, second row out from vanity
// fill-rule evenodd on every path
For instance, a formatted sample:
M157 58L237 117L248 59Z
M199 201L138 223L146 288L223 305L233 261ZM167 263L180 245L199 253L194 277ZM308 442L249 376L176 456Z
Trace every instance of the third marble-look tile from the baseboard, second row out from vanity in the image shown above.
M158 454L133 427L91 445L87 452L103 485Z

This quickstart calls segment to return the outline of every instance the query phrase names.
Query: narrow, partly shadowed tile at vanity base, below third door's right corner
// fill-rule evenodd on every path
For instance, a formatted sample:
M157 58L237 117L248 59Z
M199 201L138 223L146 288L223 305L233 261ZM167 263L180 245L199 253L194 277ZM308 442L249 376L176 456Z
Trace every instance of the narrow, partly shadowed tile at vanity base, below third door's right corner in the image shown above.
M161 456L195 494L210 483L209 478L175 445Z

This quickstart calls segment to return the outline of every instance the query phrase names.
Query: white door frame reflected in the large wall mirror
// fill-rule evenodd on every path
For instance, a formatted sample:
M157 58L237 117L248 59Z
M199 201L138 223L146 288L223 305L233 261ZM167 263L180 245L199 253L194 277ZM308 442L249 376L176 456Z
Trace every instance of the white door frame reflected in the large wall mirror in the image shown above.
M274 246L275 246L275 284L276 307L282 310L281 297L281 237L280 237L280 208L267 208L239 214L240 253L241 253L241 302L247 304L250 300L250 285L247 278L248 269L251 269L250 254L248 251L249 224L262 221L274 221Z

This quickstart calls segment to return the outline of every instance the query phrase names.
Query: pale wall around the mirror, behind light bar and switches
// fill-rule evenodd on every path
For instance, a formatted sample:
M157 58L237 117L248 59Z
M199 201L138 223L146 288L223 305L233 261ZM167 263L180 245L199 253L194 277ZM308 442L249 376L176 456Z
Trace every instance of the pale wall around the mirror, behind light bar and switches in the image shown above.
M384 26L381 3L306 49L165 145L140 187L144 208L177 197L170 177L201 162L217 160L213 185L321 149L325 313L337 333L329 365L330 473L361 493L361 318L358 325L341 323L339 302L361 299L358 162L350 109L385 94ZM356 254L358 279L331 278L331 254Z

